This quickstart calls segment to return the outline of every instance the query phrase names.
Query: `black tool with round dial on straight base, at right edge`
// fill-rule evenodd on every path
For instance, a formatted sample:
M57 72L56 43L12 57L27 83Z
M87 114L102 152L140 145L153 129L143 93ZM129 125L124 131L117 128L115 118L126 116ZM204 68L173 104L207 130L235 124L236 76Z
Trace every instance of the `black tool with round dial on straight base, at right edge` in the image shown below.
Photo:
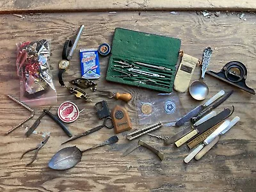
M255 91L245 84L247 69L244 64L239 61L230 61L221 69L220 72L207 70L206 74L217 77L222 81L237 86L238 88L255 95Z

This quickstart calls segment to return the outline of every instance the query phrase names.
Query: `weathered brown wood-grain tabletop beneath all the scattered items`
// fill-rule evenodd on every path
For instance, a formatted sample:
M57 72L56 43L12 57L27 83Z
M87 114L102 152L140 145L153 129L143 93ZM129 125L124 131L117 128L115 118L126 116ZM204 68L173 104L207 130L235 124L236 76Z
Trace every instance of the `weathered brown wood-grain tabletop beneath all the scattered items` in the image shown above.
M205 47L211 46L213 53L210 70L219 71L228 61L241 61L248 69L247 85L256 89L256 16L246 13L244 20L239 19L237 14L241 13L221 13L220 17L212 15L209 18L195 12L178 12L177 15L170 12L35 13L22 15L23 19L15 15L0 15L0 191L256 191L255 95L207 75L205 82L210 89L207 99L221 89L225 92L234 89L234 94L216 111L234 105L232 117L240 116L241 122L227 132L218 145L200 161L193 160L184 164L184 157L189 154L188 147L166 147L163 141L150 136L143 136L142 140L164 152L163 161L159 161L145 148L120 157L128 147L136 144L136 141L127 141L127 132L122 132L117 134L118 143L84 153L76 167L65 171L51 170L47 164L61 148L76 145L83 150L106 140L114 131L104 128L62 146L60 144L67 140L67 136L55 122L44 116L36 133L26 138L26 126L31 126L42 109L49 106L34 108L35 117L32 120L4 136L6 131L29 116L26 109L6 97L6 94L10 94L19 98L19 77L15 67L16 43L51 39L52 74L58 93L58 103L52 106L51 112L56 113L58 106L65 100L75 102L80 109L84 108L79 119L68 124L73 134L77 134L102 123L95 115L94 104L105 99L99 97L97 92L87 90L92 102L86 103L70 95L58 84L58 61L61 59L63 43L81 24L85 25L85 29L70 68L64 74L66 82L80 77L78 50L97 48L103 42L111 44L113 31L119 27L180 38L181 49L196 58L202 58ZM108 57L100 58L101 77L95 81L98 88L129 92L133 96L128 104L106 99L109 108L112 109L116 104L125 106L132 126L143 127L138 125L138 98L157 92L106 82L107 66ZM200 67L196 67L191 81L199 77ZM188 92L177 95L186 112L204 103L191 99ZM179 130L175 127L162 127L154 134L172 136ZM21 154L40 143L47 133L51 134L51 138L38 153L36 161L26 166L33 153L20 160Z

